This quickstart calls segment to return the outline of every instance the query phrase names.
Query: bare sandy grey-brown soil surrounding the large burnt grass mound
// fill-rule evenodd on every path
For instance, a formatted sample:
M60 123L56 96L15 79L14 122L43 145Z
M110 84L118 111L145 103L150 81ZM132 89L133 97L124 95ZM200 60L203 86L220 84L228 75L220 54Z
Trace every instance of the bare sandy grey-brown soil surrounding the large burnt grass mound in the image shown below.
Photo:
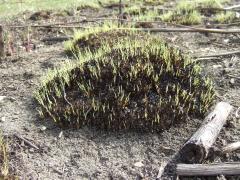
M107 13L111 13L109 11ZM106 14L106 10L85 10L81 14L99 17ZM25 16L29 17L29 14ZM35 23L76 19L79 16L53 16ZM19 24L22 21L19 17L10 23ZM21 30L13 30L12 33L16 38L14 45L17 46ZM20 179L156 179L161 162L175 161L177 152L202 120L190 120L161 134L107 133L88 127L62 130L49 120L40 121L32 93L48 68L57 67L66 60L62 43L47 45L39 41L48 34L56 35L56 31L34 30L31 39L37 47L35 50L20 50L0 62L0 95L6 96L0 103L0 119L5 118L0 122L0 127L9 138L11 171ZM237 35L163 33L162 36L192 56L233 51L238 49L240 43ZM214 80L217 101L224 100L235 107L215 145L221 147L239 141L240 122L235 112L240 107L240 56L219 57L200 63ZM15 134L28 139L39 149L24 144ZM227 161L240 161L240 151L216 156L206 160L206 163ZM142 162L142 167L137 167L136 162ZM171 168L166 173L165 179L174 178Z

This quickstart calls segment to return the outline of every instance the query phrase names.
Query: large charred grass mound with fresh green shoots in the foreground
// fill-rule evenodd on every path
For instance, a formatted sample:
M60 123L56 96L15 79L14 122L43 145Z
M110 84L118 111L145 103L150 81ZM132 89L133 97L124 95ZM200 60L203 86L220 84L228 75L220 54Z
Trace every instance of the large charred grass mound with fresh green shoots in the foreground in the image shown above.
M159 38L105 44L49 72L35 93L39 113L61 127L162 131L211 105L211 81Z

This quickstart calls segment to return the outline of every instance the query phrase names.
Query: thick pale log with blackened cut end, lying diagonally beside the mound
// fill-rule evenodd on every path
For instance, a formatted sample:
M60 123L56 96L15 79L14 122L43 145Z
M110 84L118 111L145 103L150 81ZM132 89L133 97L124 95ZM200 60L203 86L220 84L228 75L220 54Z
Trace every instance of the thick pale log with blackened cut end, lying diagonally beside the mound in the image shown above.
M181 149L180 157L183 162L200 163L207 157L210 147L216 141L232 108L226 102L216 105L215 109L205 118L202 126Z

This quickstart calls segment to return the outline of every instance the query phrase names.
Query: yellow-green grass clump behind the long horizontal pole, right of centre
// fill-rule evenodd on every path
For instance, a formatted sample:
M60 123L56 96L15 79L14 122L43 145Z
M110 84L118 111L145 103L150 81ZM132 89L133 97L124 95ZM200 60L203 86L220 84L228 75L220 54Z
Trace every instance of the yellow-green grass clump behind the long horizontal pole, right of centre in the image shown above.
M188 1L179 2L173 11L162 15L161 19L183 25L200 24L202 22L202 16L196 9L196 4Z

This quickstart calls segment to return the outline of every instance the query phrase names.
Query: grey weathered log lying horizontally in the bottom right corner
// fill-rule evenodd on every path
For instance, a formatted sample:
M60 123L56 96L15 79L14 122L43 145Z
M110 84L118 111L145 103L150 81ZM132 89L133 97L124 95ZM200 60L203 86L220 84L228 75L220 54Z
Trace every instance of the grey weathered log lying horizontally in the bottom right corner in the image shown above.
M240 163L177 164L178 176L240 175Z

